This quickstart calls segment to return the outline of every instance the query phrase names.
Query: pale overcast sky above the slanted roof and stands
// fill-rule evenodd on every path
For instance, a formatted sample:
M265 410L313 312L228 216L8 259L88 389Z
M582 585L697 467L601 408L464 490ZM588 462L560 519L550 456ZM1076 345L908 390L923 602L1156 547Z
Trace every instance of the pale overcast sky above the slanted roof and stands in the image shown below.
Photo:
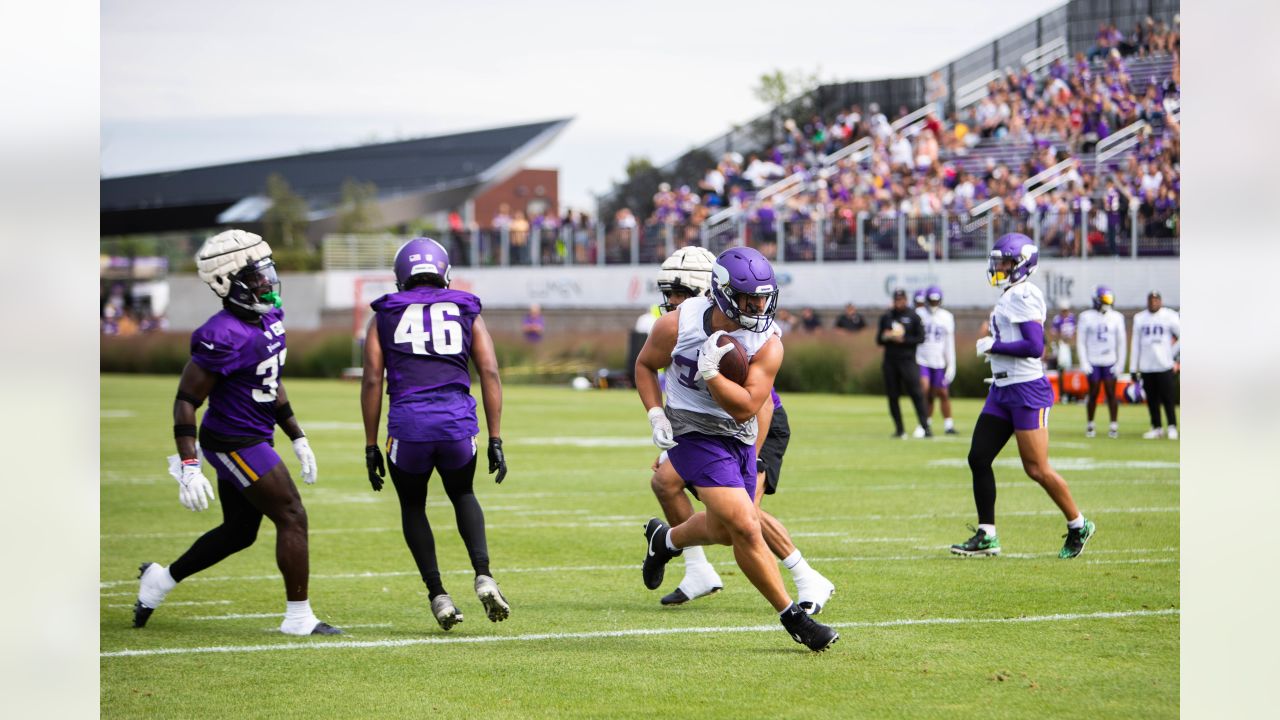
M776 68L918 76L1064 0L102 0L104 176L572 117L534 167L591 209L765 110Z

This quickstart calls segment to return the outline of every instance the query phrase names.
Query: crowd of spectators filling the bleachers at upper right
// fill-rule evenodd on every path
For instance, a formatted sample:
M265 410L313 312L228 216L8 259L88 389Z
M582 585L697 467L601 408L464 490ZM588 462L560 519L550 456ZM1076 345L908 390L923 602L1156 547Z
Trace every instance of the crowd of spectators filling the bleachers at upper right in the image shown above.
M1116 236L1129 232L1130 208L1143 237L1171 237L1180 192L1178 53L1178 19L1170 29L1148 18L1129 36L1103 26L1089 53L1060 58L1034 74L1007 70L988 83L984 97L946 120L934 111L900 132L874 102L831 118L787 119L781 142L745 158L726 152L698 187L659 187L655 210L643 224L680 228L677 242L684 245L696 241L698 225L712 213L733 206L767 245L778 218L822 218L828 237L849 238L859 215L884 227L883 220L897 218L968 215L1000 199L995 215L1039 224L1042 246L1064 255L1079 254L1085 241L1092 252L1115 252ZM1167 58L1170 70L1133 82L1128 65L1134 58ZM896 117L906 114L900 108ZM1138 120L1146 128L1137 133L1137 146L1097 167L1097 145ZM824 156L861 138L868 138L865 152L823 164ZM988 152L993 146L1025 152L1009 160ZM980 160L975 167L966 158ZM1023 187L1024 181L1064 160L1074 160L1065 182L1032 197L1036 186ZM804 192L753 201L759 190L794 173L803 173Z

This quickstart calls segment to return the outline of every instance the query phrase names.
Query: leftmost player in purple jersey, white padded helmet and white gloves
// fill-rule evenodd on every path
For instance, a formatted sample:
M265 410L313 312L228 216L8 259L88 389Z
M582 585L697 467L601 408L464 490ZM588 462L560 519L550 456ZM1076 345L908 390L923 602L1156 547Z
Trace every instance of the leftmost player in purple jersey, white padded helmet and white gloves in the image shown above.
M232 229L218 233L196 252L200 279L223 301L223 309L191 334L191 360L178 380L173 436L178 455L169 473L178 500L202 511L214 488L201 471L201 456L218 474L223 523L209 530L168 568L143 562L133 626L142 628L178 583L257 539L262 516L275 524L275 562L284 575L285 610L280 632L288 635L338 635L311 611L307 580L307 511L289 469L275 454L275 425L293 441L302 480L316 482L311 452L280 380L284 366L284 311L271 247L260 236ZM196 442L196 409L209 400Z

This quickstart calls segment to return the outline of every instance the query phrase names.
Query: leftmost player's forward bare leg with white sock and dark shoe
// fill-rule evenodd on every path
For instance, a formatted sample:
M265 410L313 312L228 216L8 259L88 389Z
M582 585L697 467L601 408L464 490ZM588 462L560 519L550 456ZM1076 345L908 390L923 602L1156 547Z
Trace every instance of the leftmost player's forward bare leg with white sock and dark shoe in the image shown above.
M244 497L275 524L275 564L284 575L284 597L288 601L280 632L292 635L337 633L335 628L315 616L307 600L311 573L307 511L284 462L244 488Z

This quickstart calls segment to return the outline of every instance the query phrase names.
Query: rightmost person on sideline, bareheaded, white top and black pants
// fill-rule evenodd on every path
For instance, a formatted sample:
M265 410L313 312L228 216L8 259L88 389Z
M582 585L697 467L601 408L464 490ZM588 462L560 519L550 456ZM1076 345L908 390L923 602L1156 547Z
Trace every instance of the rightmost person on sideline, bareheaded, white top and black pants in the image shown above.
M1160 291L1147 295L1147 309L1133 316L1133 340L1129 347L1129 373L1134 380L1142 378L1142 391L1147 395L1151 429L1143 439L1167 437L1178 439L1178 415L1174 411L1174 374L1181 370L1178 355L1181 350L1183 325L1178 313L1164 306ZM1160 423L1160 409L1165 409L1169 430Z

